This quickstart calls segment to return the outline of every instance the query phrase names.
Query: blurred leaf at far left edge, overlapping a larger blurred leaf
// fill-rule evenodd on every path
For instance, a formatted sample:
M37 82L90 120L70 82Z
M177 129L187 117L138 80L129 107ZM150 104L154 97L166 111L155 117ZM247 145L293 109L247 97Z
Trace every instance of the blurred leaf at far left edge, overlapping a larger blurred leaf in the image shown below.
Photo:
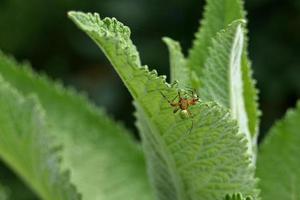
M62 173L37 98L24 98L0 77L0 155L43 199L80 199Z

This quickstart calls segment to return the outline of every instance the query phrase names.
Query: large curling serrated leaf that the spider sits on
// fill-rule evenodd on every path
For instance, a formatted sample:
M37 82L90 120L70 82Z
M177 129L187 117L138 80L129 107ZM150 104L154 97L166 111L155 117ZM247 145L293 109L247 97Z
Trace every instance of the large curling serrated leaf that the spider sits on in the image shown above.
M130 31L116 19L70 12L70 18L103 50L137 107L151 183L157 199L222 199L241 191L257 196L246 139L227 110L199 103L193 118L173 114L166 98L177 95L165 77L140 66Z

